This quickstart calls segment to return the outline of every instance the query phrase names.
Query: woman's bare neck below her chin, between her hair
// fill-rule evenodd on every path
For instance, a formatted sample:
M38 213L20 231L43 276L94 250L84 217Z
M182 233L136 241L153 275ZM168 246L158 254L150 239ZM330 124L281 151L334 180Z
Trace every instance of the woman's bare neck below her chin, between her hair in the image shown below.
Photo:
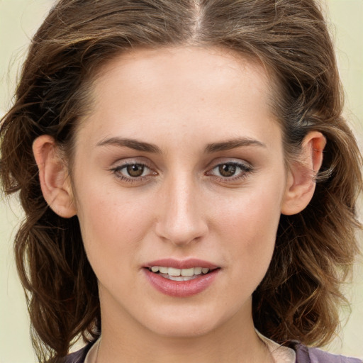
M101 309L102 311L102 309ZM114 314L102 315L102 340L96 363L266 363L272 362L259 339L252 314L237 313L227 323L202 335L172 337L160 335Z

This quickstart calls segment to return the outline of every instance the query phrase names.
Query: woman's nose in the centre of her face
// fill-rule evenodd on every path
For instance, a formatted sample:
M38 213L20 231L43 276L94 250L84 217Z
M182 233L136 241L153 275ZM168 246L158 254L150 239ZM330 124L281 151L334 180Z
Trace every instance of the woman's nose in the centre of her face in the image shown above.
M155 231L162 240L188 245L208 233L206 211L197 182L191 178L165 181Z

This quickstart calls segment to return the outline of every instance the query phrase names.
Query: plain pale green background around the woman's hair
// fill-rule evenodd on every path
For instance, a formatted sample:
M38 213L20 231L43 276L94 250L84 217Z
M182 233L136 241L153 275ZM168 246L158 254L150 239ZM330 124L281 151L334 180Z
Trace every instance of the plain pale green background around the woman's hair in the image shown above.
M52 2L0 0L0 115L11 105L18 67L31 36ZM363 145L363 0L325 0L324 6L336 38L340 74L346 91L345 113ZM25 299L11 247L20 218L16 200L0 201L0 363L35 362ZM352 301L352 315L326 349L363 358L362 261L355 267L354 284L347 287L347 293ZM347 312L343 311L342 317L347 317Z

